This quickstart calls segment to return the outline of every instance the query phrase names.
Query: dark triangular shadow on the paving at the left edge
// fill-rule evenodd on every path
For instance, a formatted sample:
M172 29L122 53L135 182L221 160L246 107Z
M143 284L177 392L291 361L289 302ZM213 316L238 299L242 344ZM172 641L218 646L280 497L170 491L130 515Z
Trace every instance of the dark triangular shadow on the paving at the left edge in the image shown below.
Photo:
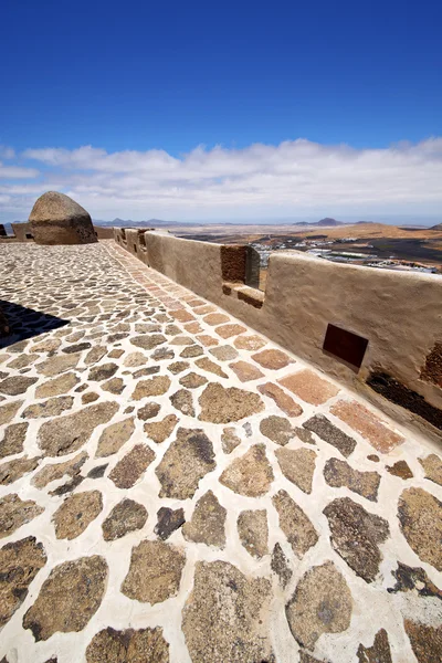
M0 337L0 348L7 348L20 340L27 340L45 332L59 329L70 323L70 320L4 299L0 299L0 311L8 320L10 329L8 336Z

